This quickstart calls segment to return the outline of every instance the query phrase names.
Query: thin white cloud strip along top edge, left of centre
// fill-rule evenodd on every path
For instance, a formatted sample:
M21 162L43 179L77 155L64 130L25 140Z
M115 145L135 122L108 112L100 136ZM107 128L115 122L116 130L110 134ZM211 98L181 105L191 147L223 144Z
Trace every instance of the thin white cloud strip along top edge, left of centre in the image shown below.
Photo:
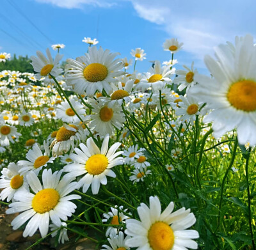
M84 4L92 5L95 7L109 8L115 3L109 3L102 0L35 0L39 3L53 4L61 8L83 8Z

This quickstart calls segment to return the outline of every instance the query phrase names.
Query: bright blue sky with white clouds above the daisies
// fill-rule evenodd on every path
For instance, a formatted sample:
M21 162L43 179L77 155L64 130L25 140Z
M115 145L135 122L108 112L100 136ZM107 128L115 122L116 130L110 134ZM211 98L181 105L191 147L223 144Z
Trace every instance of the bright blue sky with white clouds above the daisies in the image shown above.
M31 56L64 43L63 59L76 58L87 51L82 40L90 36L122 58L131 58L131 49L144 49L147 59L136 66L141 72L148 70L148 61L170 59L162 47L168 38L184 43L175 54L180 65L195 61L205 73L204 55L213 54L214 46L256 34L253 0L1 0L1 10L0 52Z

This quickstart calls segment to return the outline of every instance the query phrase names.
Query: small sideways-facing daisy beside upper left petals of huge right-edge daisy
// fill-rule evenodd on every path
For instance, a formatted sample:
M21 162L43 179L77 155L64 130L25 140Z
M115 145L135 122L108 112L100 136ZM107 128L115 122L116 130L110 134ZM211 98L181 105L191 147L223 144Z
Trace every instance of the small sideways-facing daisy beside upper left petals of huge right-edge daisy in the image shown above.
M186 70L176 70L175 73L179 76L173 79L173 83L181 83L178 87L179 91L184 90L184 88L188 91L191 86L195 85L194 75L197 73L197 70L194 69L194 62L191 64L191 68L188 68L186 65L183 65L183 68Z

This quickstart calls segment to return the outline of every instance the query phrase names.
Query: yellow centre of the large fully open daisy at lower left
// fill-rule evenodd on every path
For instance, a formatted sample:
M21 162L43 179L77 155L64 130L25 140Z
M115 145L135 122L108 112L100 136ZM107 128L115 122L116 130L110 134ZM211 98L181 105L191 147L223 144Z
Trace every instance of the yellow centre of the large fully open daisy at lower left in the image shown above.
M58 204L60 194L55 189L43 189L32 200L32 207L38 214L49 212Z

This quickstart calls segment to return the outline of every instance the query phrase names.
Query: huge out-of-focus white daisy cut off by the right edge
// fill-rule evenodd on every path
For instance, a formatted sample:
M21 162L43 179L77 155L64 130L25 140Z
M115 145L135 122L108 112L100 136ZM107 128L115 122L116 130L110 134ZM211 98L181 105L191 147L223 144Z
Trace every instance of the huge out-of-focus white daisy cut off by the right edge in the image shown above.
M213 136L218 138L237 129L239 144L256 145L256 47L253 36L236 37L235 52L230 45L215 49L218 61L205 56L212 78L195 75L191 91L212 109L204 122L212 122ZM195 88L195 90L194 90Z

